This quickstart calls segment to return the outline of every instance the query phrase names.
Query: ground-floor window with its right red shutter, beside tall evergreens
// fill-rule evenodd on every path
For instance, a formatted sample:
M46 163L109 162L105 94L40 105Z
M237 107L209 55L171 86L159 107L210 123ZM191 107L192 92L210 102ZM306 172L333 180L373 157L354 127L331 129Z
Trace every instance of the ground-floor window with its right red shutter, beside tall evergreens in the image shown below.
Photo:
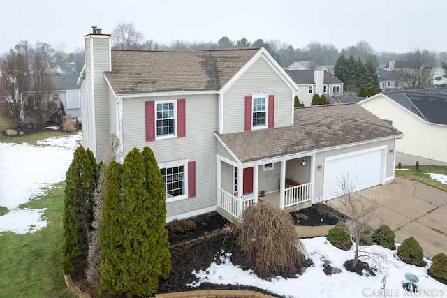
M166 202L196 196L196 162L177 161L159 165L165 182Z

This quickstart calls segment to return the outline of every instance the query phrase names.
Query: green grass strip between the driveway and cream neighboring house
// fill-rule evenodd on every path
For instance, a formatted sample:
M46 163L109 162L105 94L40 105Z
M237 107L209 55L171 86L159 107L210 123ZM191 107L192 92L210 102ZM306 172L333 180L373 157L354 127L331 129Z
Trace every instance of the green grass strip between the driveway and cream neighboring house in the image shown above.
M442 184L441 182L432 179L430 175L427 174L427 173L434 173L434 174L447 175L447 167L441 167L438 165L420 165L419 170L416 170L414 166L402 167L402 169L409 169L409 170L402 171L396 169L395 175L397 177L419 181L427 185L439 188L443 191L447 191L446 184Z

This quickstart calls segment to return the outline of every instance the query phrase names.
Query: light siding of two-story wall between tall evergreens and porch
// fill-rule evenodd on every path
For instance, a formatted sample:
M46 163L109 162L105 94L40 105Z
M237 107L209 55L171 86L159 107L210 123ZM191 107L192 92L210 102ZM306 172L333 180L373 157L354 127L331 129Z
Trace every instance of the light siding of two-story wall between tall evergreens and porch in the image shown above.
M148 100L185 99L186 136L146 142L145 102ZM168 202L169 218L216 206L217 96L163 96L123 98L124 156L133 147L154 151L159 164L172 161L196 161L196 197Z

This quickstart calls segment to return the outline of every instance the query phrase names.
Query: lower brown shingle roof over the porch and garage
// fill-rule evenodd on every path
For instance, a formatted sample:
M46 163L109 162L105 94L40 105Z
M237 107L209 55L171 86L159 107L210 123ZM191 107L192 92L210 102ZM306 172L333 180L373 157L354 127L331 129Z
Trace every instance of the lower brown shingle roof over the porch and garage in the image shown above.
M402 135L355 103L295 108L294 123L219 137L245 163Z

